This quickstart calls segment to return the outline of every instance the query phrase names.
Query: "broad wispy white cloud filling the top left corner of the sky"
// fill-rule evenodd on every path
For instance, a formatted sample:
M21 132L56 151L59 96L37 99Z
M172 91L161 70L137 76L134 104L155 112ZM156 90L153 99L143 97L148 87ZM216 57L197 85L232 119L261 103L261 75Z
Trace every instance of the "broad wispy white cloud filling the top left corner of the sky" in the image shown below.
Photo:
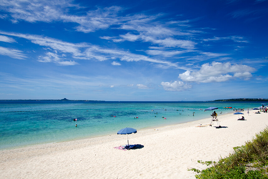
M85 33L106 29L124 19L117 16L122 7L112 6L97 8L96 10L81 13L84 7L75 4L72 0L42 1L42 0L1 0L0 9L6 14L2 18L9 18L13 23L26 22L74 22L77 31ZM74 15L70 12L80 12Z

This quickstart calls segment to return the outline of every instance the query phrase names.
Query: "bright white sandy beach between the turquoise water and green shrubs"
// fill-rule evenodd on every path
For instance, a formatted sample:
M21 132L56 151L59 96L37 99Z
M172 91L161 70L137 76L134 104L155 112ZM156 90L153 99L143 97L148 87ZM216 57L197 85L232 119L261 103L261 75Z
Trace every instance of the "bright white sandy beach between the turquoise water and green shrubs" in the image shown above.
M228 156L267 127L268 114L243 116L219 115L223 128L195 127L208 118L140 130L128 135L130 144L144 146L135 150L113 148L127 144L126 135L115 134L0 151L0 178L195 178L187 168L206 167L197 160Z

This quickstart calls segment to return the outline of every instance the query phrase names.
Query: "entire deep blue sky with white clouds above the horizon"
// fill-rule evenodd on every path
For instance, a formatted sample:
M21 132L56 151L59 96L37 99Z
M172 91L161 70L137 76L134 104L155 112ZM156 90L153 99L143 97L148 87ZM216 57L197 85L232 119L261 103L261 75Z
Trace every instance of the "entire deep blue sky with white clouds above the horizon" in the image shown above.
M0 0L0 99L268 98L268 0Z

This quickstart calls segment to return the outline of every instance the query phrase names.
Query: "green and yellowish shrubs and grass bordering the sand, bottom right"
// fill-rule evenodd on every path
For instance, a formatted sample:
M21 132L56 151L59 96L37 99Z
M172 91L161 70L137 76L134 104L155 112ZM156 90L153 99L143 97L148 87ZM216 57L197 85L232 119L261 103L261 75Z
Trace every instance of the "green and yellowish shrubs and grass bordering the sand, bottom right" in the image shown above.
M268 179L268 128L256 134L252 141L233 149L233 153L219 162L198 161L211 166L207 169L188 170L197 172L198 179Z

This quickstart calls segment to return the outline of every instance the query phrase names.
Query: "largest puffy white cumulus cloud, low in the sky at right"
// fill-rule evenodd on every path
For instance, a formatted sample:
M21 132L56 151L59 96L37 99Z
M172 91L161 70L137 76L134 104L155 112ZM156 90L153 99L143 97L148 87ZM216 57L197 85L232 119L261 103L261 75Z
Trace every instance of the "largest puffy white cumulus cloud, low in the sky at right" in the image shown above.
M186 70L179 74L179 78L187 82L201 83L223 82L233 77L248 80L252 76L251 72L254 71L254 68L247 65L212 62L212 64L203 64L199 71Z

